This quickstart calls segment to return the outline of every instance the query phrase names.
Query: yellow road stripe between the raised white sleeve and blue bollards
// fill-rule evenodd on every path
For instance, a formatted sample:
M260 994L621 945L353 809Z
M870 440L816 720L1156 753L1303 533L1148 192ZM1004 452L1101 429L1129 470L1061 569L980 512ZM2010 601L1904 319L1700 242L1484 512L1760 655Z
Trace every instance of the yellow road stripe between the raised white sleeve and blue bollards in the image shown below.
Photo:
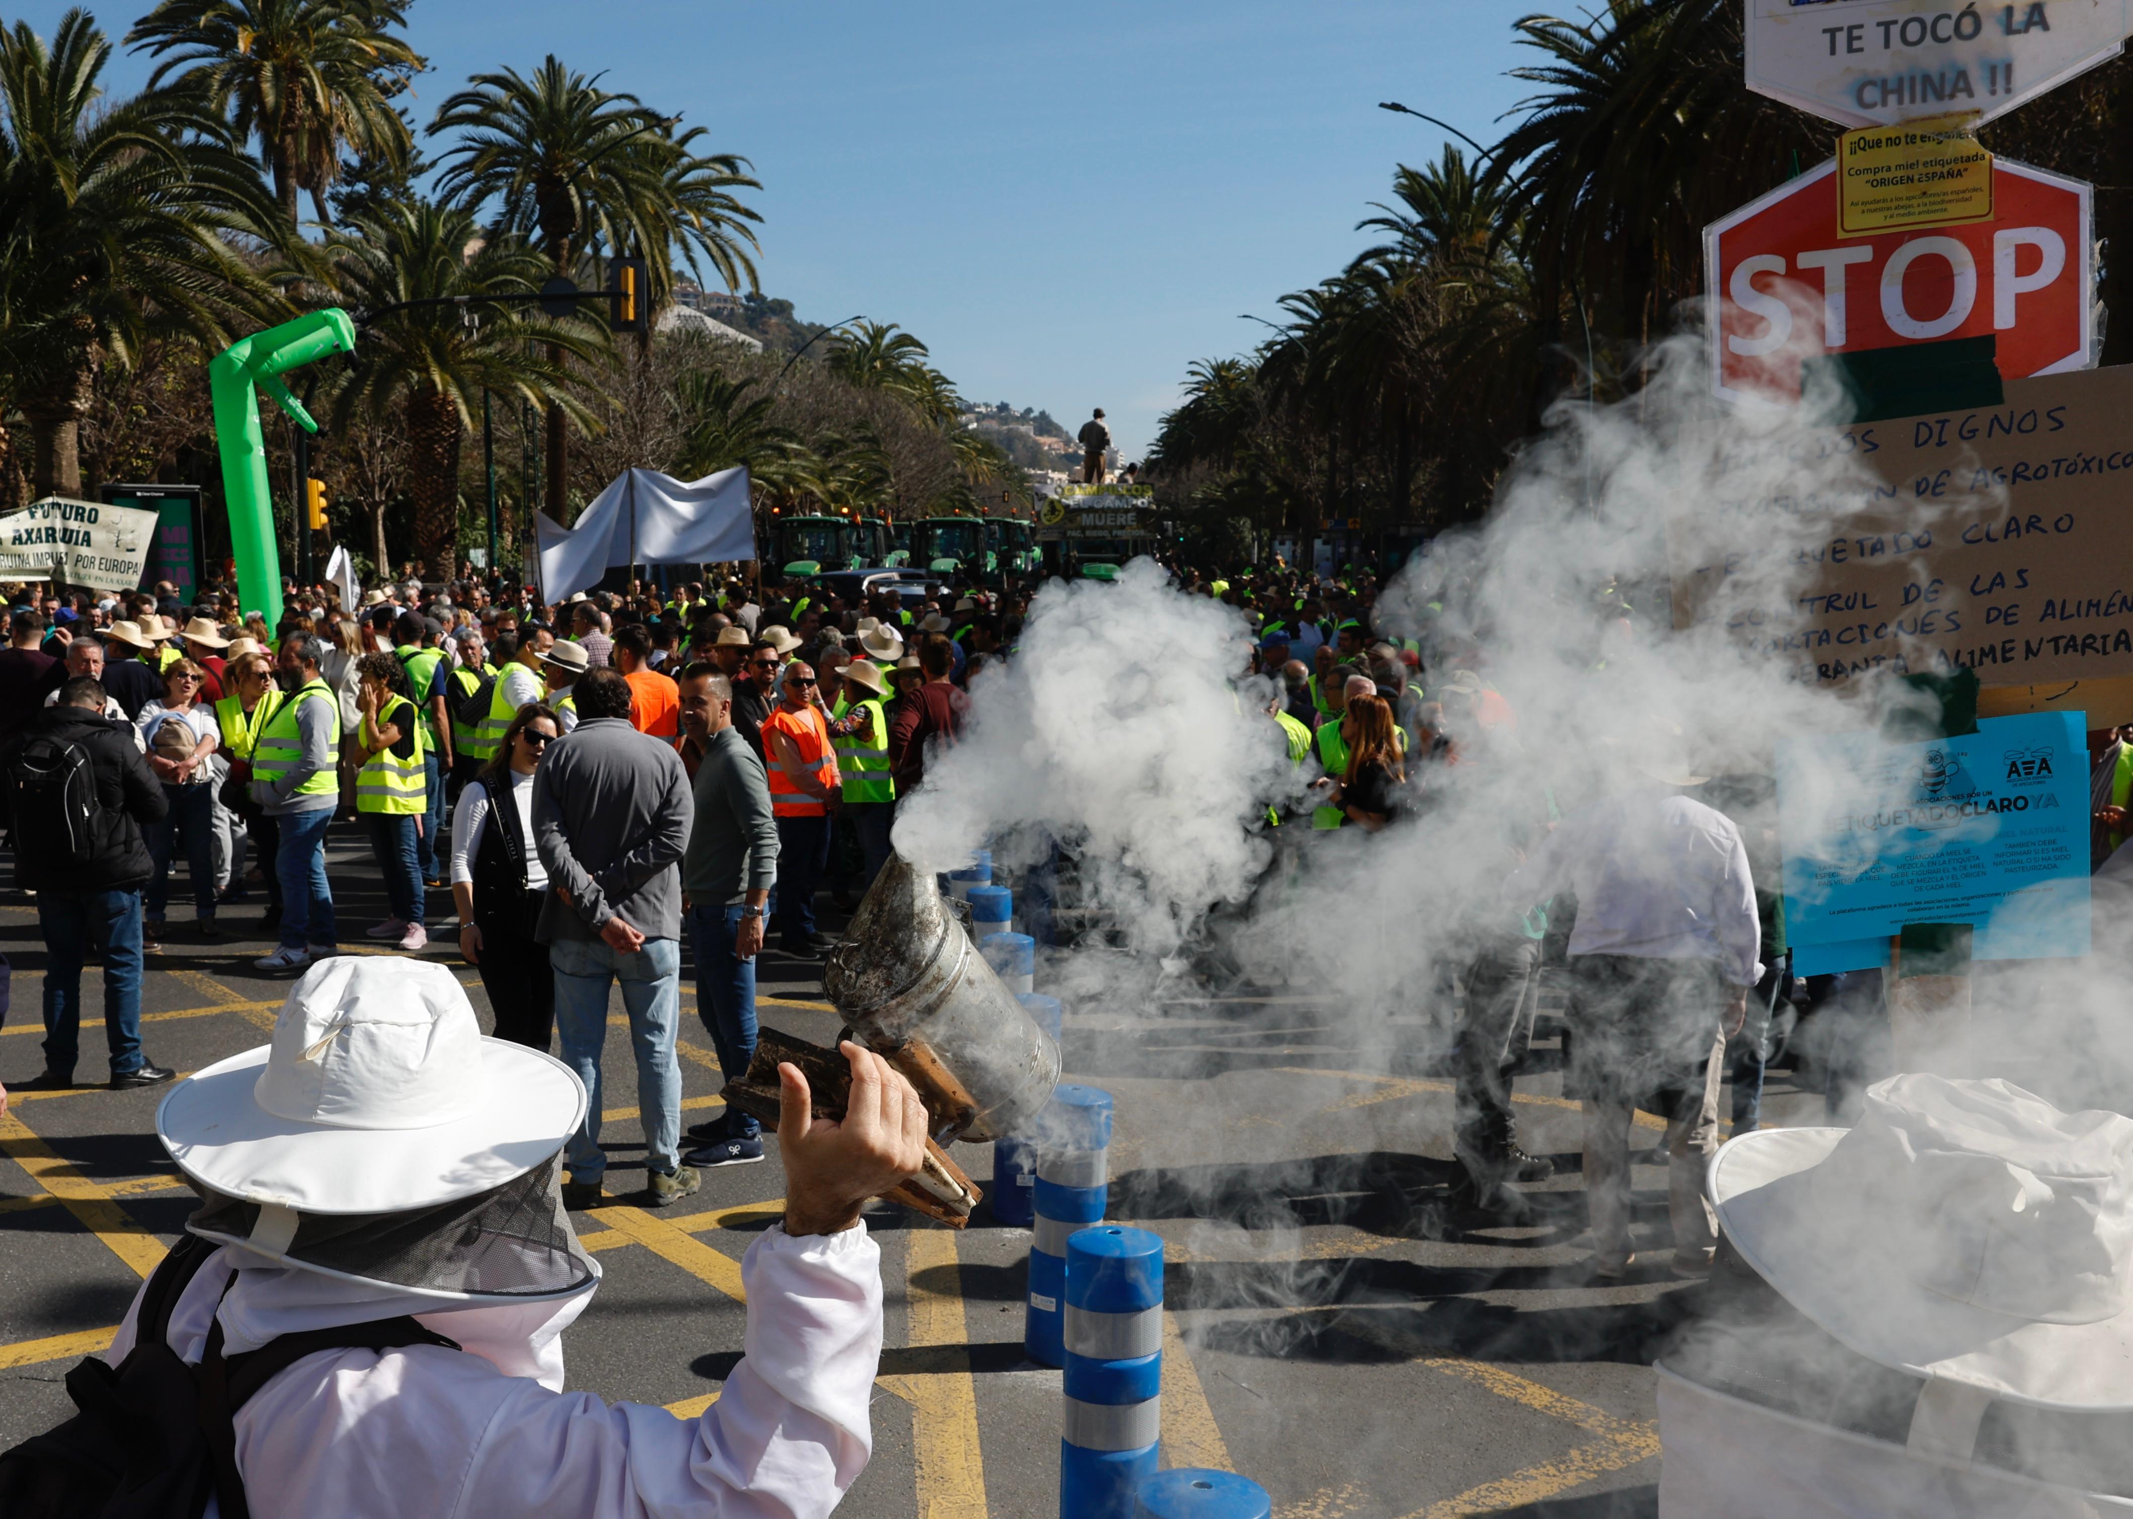
M919 1284L919 1274L956 1269L956 1233L911 1229L909 1242L909 1342L951 1346L943 1368L928 1374L883 1376L881 1385L911 1404L911 1446L917 1461L917 1519L988 1519L985 1459L977 1449L977 1382L971 1376L968 1331L962 1293L951 1284L936 1291Z

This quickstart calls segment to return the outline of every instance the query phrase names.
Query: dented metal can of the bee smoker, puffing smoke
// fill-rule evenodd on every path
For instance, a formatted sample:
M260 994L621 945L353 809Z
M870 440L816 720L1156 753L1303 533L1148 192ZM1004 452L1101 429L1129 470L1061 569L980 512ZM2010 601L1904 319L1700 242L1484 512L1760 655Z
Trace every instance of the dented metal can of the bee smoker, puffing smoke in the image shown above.
M1060 1080L1052 1035L1000 984L934 879L892 856L830 954L823 992L926 1099L934 1139L1026 1126Z

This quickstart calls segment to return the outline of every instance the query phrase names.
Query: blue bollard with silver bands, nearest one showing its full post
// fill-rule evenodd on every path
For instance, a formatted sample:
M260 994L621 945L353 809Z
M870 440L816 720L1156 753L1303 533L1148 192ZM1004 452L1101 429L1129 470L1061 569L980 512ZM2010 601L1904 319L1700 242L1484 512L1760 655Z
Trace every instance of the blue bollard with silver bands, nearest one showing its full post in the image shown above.
M1162 1237L1103 1225L1066 1240L1060 1519L1135 1519L1162 1438Z

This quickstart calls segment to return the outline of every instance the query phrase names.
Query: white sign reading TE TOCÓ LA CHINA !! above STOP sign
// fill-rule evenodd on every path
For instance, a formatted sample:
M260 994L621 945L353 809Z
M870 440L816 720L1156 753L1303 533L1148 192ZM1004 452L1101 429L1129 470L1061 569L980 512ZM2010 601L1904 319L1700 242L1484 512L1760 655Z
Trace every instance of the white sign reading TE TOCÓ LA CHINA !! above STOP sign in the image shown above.
M1747 85L1845 126L2003 111L2124 47L2127 0L1747 0Z

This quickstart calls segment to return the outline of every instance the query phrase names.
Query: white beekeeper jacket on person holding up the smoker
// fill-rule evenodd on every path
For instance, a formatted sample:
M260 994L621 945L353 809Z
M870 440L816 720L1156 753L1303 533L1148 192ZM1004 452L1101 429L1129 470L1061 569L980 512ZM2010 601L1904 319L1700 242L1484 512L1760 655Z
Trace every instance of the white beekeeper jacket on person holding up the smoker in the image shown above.
M173 1314L186 1359L205 1340L220 1265ZM772 1227L740 1269L747 1357L695 1419L508 1376L471 1336L480 1355L407 1346L296 1361L237 1412L254 1517L823 1519L872 1453L881 1250L864 1225L798 1240ZM450 1336L454 1316L424 1323ZM128 1314L111 1359L130 1344Z

